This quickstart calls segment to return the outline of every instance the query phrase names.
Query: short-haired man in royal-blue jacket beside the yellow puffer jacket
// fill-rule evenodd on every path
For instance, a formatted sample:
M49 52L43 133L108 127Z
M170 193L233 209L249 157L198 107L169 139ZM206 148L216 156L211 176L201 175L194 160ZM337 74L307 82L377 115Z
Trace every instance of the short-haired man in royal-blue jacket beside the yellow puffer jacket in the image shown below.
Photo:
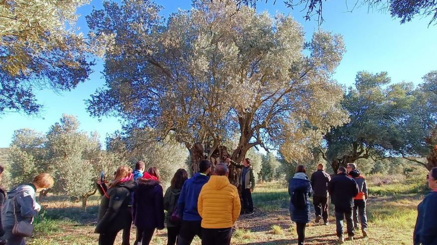
M202 217L199 215L197 200L202 187L208 182L211 171L211 162L202 160L199 164L199 173L186 180L178 199L178 212L182 218L178 236L178 245L190 245L197 235L202 239Z

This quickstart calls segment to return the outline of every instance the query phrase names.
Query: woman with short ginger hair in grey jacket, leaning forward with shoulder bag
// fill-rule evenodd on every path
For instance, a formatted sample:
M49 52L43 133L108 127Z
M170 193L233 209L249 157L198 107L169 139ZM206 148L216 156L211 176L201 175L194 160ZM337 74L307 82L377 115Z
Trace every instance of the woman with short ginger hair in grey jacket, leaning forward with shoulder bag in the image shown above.
M39 174L31 184L19 185L7 192L7 199L1 211L1 222L4 229L6 245L25 245L24 237L12 234L15 224L14 205L17 221L28 221L32 223L33 217L41 210L36 202L35 194L52 188L53 178L47 174Z

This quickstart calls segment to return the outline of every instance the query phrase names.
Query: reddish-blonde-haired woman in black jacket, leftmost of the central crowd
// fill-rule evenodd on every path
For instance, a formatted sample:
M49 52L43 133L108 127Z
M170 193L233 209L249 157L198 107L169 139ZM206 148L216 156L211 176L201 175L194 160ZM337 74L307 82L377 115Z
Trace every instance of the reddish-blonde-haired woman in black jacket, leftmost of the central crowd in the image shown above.
M114 179L109 183L108 191L100 201L96 233L99 233L99 245L113 245L117 233L131 227L131 192L136 188L132 169L118 167Z

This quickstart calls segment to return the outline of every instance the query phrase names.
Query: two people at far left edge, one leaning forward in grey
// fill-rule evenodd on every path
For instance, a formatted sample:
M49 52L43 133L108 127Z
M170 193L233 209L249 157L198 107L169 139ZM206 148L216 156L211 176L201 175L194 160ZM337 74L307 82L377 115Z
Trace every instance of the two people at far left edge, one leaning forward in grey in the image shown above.
M3 171L0 166L0 181ZM32 183L20 184L8 192L0 188L0 245L25 245L25 237L33 232L33 219L41 210L35 195L52 188L53 184L52 176L42 173Z

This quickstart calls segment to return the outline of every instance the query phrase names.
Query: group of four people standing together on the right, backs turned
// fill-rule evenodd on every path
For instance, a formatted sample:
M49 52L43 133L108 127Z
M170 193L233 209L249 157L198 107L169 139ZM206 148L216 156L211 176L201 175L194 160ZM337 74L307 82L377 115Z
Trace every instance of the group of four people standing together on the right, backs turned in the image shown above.
M357 165L349 163L347 167L340 167L337 175L331 176L324 170L323 164L318 164L317 171L310 178L306 175L303 165L298 165L294 176L289 182L290 215L296 223L297 244L303 245L305 227L310 222L311 207L309 197L313 196L315 222L323 218L324 225L328 225L329 196L335 206L337 237L340 244L344 243L343 220L346 219L348 239L354 240L355 229L359 228L363 236L367 237L367 216L365 204L368 197L365 178L360 174Z

